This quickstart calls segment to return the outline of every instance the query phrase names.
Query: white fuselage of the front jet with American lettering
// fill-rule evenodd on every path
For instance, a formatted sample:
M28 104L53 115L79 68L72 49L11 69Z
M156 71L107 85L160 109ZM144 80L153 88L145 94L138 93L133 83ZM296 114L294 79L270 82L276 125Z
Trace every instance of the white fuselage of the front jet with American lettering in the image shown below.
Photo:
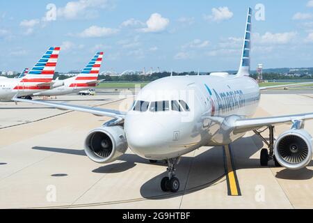
M179 157L201 146L230 144L229 123L255 114L259 86L250 77L167 77L145 86L138 101L183 100L190 112L138 112L125 117L125 134L134 153L151 160ZM171 102L170 102L171 104ZM171 107L171 106L170 106Z

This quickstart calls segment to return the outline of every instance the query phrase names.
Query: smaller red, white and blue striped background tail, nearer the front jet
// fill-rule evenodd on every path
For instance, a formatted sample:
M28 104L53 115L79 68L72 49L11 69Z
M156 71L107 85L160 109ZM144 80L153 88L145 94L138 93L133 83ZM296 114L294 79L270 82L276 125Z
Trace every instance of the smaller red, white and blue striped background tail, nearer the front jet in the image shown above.
M95 87L97 85L103 55L103 52L97 52L81 73L77 75L70 87Z

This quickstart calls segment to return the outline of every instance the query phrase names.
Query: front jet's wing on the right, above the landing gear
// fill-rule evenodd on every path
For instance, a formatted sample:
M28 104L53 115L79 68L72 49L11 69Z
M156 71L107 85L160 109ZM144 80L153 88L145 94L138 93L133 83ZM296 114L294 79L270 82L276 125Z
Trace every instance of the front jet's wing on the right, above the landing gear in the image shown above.
M234 123L234 133L248 132L262 127L273 125L282 125L287 123L294 123L295 121L306 121L313 119L313 113L296 114L291 116L276 116L268 118L249 118L239 119Z

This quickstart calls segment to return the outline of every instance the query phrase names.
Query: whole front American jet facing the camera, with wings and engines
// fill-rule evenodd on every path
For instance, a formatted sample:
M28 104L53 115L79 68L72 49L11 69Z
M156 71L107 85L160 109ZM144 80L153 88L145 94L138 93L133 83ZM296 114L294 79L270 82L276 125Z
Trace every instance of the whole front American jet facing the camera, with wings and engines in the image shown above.
M236 75L166 77L145 86L129 112L33 101L35 104L113 117L92 130L85 142L86 155L106 164L117 160L130 148L147 160L166 160L168 176L161 180L164 192L177 192L175 169L182 155L201 146L225 146L246 132L268 128L268 148L262 149L261 165L275 160L287 169L301 169L312 160L312 137L305 121L313 113L251 118L255 114L260 89L250 74L252 9L248 10L239 71ZM17 102L31 102L15 98ZM275 125L291 124L290 130L274 139Z

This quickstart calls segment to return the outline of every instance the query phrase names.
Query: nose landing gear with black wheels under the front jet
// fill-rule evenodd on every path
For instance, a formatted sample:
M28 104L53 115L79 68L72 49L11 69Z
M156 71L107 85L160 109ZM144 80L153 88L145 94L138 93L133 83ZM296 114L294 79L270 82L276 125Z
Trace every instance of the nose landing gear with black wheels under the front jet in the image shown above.
M161 189L163 192L176 193L179 190L179 180L175 177L175 166L179 164L181 157L169 159L168 161L168 176L161 180Z

